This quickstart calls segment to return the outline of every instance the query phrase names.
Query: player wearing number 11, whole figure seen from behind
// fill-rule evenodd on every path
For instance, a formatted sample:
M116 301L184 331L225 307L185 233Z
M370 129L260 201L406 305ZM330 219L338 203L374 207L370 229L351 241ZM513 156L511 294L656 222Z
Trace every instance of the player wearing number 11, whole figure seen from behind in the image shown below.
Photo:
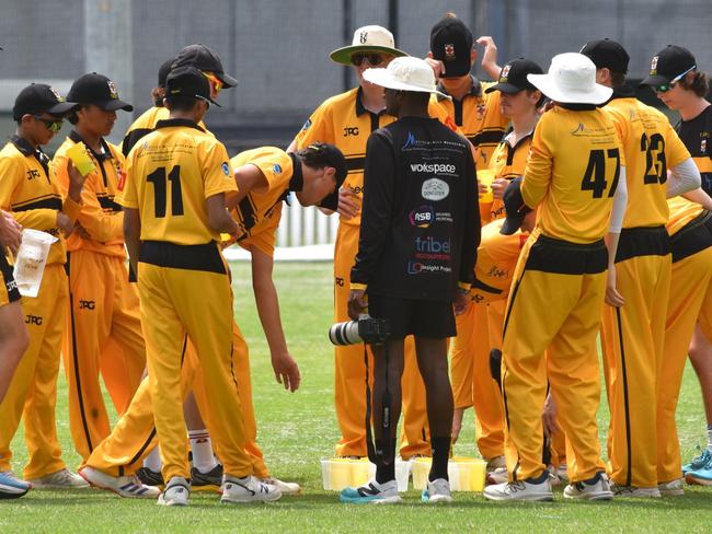
M124 232L138 276L156 431L168 481L165 506L186 506L190 466L183 419L183 336L195 346L210 405L210 429L225 466L222 502L276 500L278 488L257 480L244 451L245 433L232 370L232 292L217 242L237 235L226 195L237 186L225 147L197 123L210 103L210 86L193 67L166 80L171 118L130 152L119 201ZM228 200L229 201L229 200Z

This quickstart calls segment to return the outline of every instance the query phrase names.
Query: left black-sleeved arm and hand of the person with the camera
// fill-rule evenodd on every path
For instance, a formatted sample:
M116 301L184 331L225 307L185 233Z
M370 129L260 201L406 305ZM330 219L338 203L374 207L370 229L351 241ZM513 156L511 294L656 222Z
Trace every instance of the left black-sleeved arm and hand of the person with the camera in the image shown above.
M356 263L351 271L348 314L356 318L365 307L364 293L381 257L391 225L395 161L383 135L372 134L366 144L364 211Z

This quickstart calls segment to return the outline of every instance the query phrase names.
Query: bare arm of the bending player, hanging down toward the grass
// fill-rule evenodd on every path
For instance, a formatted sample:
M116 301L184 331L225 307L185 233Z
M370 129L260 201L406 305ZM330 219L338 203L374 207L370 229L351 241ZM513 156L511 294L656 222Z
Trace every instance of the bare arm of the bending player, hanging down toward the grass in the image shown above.
M250 254L252 255L252 288L260 323L269 346L275 379L284 384L285 390L295 392L299 387L301 376L297 362L289 353L282 328L279 300L272 280L274 259L254 245L250 247Z

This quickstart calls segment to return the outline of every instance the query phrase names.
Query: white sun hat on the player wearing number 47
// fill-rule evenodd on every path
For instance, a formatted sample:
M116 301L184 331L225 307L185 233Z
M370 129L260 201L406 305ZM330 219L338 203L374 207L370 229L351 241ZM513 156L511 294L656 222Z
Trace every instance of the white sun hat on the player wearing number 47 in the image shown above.
M613 94L596 83L596 66L583 54L559 54L546 74L527 74L527 80L546 96L562 104L602 104Z

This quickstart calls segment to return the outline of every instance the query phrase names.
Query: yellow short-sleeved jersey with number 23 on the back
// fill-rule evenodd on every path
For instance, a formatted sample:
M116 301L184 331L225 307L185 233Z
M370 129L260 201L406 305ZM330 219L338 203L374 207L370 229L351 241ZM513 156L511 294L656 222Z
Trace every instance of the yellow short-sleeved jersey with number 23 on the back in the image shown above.
M665 115L634 97L613 98L609 112L625 152L628 207L623 228L659 227L668 219L667 171L690 156Z

